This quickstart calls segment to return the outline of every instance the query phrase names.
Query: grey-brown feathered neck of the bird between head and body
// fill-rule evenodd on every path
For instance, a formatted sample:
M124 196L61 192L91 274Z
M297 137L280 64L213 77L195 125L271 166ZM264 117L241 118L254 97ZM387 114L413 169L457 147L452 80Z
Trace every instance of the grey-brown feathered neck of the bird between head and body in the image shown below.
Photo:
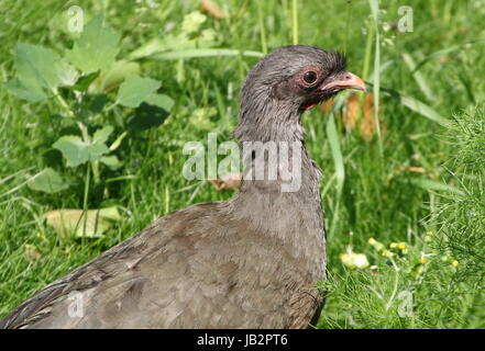
M294 248L295 254L311 257L321 253L324 246L320 169L306 150L300 115L277 117L278 122L267 123L272 116L266 115L266 120L260 116L251 118L252 124L243 121L238 126L234 134L241 141L243 155L252 162L245 162L243 182L232 206L234 213L258 233L279 237ZM253 147L250 152L245 149L247 144ZM265 152L272 147L278 155L276 178L269 171L271 152ZM258 167L264 169L263 178L257 177ZM302 245L304 241L308 241L308 246ZM316 251L300 252L308 247Z

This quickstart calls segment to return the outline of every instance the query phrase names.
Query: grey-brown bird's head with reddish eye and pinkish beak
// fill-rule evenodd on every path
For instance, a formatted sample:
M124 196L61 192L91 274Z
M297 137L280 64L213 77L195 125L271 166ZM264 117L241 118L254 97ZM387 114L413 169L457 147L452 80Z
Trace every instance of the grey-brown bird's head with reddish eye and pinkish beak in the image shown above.
M251 124L254 128L255 124L264 127L262 124L298 122L304 111L344 89L365 90L362 79L349 72L345 64L343 54L315 46L291 45L273 50L244 81L239 129Z

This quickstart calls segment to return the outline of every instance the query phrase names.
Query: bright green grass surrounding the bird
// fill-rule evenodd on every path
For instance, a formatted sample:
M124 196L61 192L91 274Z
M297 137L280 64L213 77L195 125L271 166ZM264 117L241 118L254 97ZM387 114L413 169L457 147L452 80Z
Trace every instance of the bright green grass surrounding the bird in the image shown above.
M393 24L399 20L398 8L407 4L403 1L379 2L377 27L367 1L219 2L231 15L209 16L203 24L216 31L217 47L264 52L298 41L343 50L351 71L382 88L375 97L385 126L381 138L366 141L359 131L345 131L338 112L334 126L318 109L304 118L309 152L324 172L321 190L329 228L330 279L324 283L328 297L318 327L484 328L483 170L465 160L485 157L483 136L474 137L484 132L485 121L483 109L474 109L485 100L485 3L412 1L414 32L400 33ZM159 1L157 9L143 10L144 1L106 0L82 1L81 7L88 16L103 12L122 33L120 57L125 57L148 39L177 31L184 16L199 9L198 1L184 3ZM14 75L18 41L58 52L70 47L62 21L70 4L77 3L1 1L2 81ZM60 112L58 105L52 100L30 104L0 89L0 316L155 218L192 203L232 196L208 182L185 180L181 149L185 141L207 138L208 131L194 121L198 109L214 109L212 117L202 113L201 118L218 129L220 140L230 138L238 88L256 60L220 56L142 65L143 75L161 80L163 92L176 104L163 125L126 138L118 152L123 168L104 171L103 179L112 181L103 182L101 191L91 189L90 208L114 204L123 217L93 240L60 238L42 219L51 210L82 208L85 169L64 170L60 154L52 148L59 133L69 128L52 117ZM416 107L412 99L429 110ZM463 121L462 127L456 124L449 132L437 123L437 116L452 121L453 115ZM112 123L128 117L119 111L103 116ZM68 191L44 194L25 186L29 176L47 166L73 179ZM426 173L396 171L403 167L422 168ZM121 176L125 177L117 180ZM437 190L437 183L466 190L465 195ZM463 208L482 212L470 220ZM463 239L471 230L473 235ZM406 242L408 252L395 250L390 259L383 257L370 238L387 248ZM25 245L35 247L41 257L29 260ZM373 269L344 267L340 254L349 245L365 253ZM426 262L420 263L423 254ZM444 262L443 256L449 257ZM453 260L459 261L456 268ZM412 312L404 317L399 315L403 292L412 296Z

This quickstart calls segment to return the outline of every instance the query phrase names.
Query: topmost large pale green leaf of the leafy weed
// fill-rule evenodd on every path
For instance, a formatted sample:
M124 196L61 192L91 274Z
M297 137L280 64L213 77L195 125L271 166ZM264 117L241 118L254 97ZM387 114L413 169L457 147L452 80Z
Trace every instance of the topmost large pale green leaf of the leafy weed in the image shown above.
M66 53L67 59L85 73L97 70L108 71L118 55L120 34L103 25L103 15L92 18L73 49Z

